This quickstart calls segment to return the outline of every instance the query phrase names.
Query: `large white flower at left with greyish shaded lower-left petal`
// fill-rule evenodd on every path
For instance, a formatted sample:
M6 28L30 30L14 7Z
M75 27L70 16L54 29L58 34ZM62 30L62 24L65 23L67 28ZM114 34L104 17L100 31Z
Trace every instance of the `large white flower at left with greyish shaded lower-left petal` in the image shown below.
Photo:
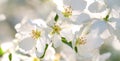
M19 36L18 46L24 53L32 53L36 50L43 54L46 44L49 43L48 36L45 33L46 23L42 19L23 20L15 26ZM33 52L34 53L34 52Z

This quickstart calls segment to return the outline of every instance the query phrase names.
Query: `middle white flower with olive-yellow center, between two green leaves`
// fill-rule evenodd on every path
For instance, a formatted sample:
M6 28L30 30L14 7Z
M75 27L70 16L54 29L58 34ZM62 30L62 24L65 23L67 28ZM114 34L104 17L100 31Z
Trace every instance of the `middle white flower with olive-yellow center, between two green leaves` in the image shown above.
M54 15L55 16L55 15ZM62 44L61 42L61 37L66 37L68 41L71 41L73 38L73 33L72 33L72 28L74 24L68 23L68 22L63 22L62 19L58 19L58 21L54 21L54 17L52 15L52 19L49 19L48 21L48 32L49 32L49 37L53 44L55 45L54 47L58 47ZM69 35L69 36L68 36Z

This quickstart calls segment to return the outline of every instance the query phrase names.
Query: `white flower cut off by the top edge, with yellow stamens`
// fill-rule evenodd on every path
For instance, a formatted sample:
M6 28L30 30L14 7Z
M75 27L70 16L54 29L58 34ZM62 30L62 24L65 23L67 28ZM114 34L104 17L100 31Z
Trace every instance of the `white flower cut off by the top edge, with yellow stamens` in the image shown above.
M86 1L84 0L53 0L57 5L57 13L63 18L70 20L74 15L79 15L81 11L86 8Z

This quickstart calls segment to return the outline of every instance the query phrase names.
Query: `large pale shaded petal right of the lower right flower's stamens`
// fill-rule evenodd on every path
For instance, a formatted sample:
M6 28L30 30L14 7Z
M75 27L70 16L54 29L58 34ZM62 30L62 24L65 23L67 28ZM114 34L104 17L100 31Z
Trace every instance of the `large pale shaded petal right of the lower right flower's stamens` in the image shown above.
M96 30L89 33L86 39L86 43L78 47L79 53L83 56L85 54L91 55L90 52L98 49L103 44L103 40L99 37Z

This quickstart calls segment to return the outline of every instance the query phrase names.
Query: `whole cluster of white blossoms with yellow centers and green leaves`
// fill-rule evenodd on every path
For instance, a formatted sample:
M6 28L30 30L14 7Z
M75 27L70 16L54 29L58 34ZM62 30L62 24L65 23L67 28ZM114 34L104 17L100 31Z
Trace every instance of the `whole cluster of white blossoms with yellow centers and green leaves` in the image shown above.
M111 54L99 48L120 40L116 7L106 0L50 1L55 9L46 20L25 17L15 25L15 39L0 46L1 61L106 61Z

